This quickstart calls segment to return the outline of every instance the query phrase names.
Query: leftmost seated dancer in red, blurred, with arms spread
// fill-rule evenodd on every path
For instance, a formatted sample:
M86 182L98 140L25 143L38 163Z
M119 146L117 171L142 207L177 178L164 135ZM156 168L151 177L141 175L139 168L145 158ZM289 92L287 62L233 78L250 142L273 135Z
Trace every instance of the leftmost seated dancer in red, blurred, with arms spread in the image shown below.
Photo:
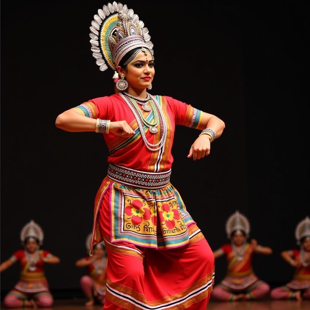
M43 237L41 227L31 220L20 232L20 240L24 250L16 251L0 265L0 272L2 272L17 261L20 262L20 281L3 300L7 308L46 308L53 304L53 297L48 288L43 265L44 263L57 264L60 259L48 251L39 249Z

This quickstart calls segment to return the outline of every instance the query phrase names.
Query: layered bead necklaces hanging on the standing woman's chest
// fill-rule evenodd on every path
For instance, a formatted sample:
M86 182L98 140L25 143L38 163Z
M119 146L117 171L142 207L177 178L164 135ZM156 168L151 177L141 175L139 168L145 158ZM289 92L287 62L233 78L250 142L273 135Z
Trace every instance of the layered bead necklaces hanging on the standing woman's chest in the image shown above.
M135 119L138 123L139 130L141 133L141 137L143 139L145 146L150 151L158 151L159 149L161 149L166 144L167 123L166 123L165 117L162 113L162 109L161 109L159 103L157 102L157 100L155 99L155 97L148 94L150 105L153 108L153 114L154 114L154 122L150 123L145 119L144 115L142 114L142 112L139 109L139 107L137 106L137 104L135 104L134 101L132 101L132 100L137 101L136 99L140 100L140 98L134 97L132 95L127 97L127 94L125 95L125 93L123 93L123 92L120 92L119 95L122 97L122 99L124 99L124 101L126 102L128 107L131 109L131 112L134 114ZM143 100L146 100L146 99L143 99ZM144 125L149 128L150 132L155 134L158 131L156 127L158 126L159 123L162 127L161 139L157 144L151 144L146 139L146 135L144 132Z

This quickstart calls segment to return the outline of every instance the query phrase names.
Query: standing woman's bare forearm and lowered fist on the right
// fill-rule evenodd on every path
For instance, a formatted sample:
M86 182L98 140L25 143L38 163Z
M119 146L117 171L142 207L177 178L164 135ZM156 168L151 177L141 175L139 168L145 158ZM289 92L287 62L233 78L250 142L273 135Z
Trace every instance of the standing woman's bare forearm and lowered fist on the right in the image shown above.
M216 138L219 138L225 128L225 123L215 115L206 112L201 113L201 122L197 129L204 130L206 128L211 128L215 131ZM193 156L193 160L196 160L208 156L210 154L210 143L211 137L209 135L199 136L192 144L187 157L190 158Z

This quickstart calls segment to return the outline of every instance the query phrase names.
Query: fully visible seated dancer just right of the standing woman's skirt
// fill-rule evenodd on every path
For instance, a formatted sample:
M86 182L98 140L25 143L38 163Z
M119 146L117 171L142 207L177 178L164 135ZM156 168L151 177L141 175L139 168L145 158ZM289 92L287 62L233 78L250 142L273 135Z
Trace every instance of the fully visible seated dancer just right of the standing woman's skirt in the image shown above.
M270 287L253 272L251 261L254 253L270 255L272 250L257 244L255 239L247 243L250 233L248 219L236 211L226 222L226 233L231 244L221 246L214 258L226 255L227 275L215 286L212 295L219 300L257 299L268 294Z

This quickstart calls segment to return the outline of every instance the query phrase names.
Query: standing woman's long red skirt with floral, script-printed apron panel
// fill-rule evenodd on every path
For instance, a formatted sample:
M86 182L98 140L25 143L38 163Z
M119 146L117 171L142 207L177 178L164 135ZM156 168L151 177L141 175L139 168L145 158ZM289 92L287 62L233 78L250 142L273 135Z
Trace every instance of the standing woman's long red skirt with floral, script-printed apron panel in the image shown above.
M154 188L156 174L144 177L151 188L123 175L127 184L106 177L95 201L93 242L104 240L108 251L104 310L205 310L214 256L179 193L169 179Z

